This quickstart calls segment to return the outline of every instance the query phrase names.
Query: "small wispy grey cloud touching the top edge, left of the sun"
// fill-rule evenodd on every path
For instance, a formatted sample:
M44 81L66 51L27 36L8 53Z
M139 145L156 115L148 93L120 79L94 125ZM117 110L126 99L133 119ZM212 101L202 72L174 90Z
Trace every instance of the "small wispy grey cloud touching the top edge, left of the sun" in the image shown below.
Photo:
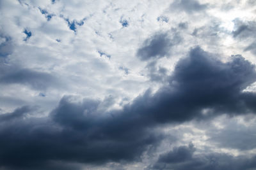
M175 1L171 4L170 8L171 10L175 11L185 11L186 13L195 13L198 11L204 11L207 9L207 4L200 4L196 0L180 0Z

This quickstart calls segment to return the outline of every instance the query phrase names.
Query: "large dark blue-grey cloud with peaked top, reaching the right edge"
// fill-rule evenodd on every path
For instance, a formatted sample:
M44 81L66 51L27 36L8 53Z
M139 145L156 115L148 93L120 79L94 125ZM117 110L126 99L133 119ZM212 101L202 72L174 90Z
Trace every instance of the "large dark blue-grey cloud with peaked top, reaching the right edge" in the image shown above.
M223 63L194 48L177 63L169 79L168 87L138 98L141 101L134 103L134 108L141 108L156 122L183 122L213 113L255 111L255 94L242 92L256 80L255 66L241 55ZM142 106L136 106L139 103L143 103ZM209 109L207 116L203 114L205 108Z

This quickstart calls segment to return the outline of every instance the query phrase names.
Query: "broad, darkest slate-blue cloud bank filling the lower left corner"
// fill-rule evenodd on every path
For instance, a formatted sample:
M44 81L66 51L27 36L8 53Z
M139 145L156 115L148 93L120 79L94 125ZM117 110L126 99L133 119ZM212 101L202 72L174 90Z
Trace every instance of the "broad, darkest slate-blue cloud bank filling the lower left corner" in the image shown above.
M98 105L99 101L72 103L64 97L49 118L1 122L1 166L37 169L48 165L54 169L50 165L56 161L140 160L146 147L161 139L156 131L132 122L134 115L95 115Z

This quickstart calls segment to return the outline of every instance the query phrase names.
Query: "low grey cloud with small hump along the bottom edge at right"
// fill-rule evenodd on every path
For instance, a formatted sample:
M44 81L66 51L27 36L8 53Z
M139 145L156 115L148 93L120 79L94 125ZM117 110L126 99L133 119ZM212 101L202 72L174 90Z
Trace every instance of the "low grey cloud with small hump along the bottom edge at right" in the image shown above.
M180 146L159 156L148 169L246 170L256 168L256 157L233 157L224 153L194 153L193 145Z

